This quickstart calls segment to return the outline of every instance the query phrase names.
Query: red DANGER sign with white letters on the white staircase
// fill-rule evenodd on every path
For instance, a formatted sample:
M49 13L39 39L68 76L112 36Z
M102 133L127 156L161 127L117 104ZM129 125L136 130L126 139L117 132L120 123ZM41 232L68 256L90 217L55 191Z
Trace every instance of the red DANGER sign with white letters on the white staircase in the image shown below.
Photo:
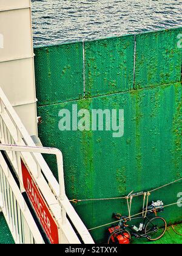
M50 240L50 243L58 244L58 226L56 225L56 222L50 213L49 207L45 203L38 186L33 181L32 176L22 161L21 166L24 188L30 199L30 202L33 205L33 208L35 209L36 214L38 215L39 221L41 222L42 227L44 228L45 233Z

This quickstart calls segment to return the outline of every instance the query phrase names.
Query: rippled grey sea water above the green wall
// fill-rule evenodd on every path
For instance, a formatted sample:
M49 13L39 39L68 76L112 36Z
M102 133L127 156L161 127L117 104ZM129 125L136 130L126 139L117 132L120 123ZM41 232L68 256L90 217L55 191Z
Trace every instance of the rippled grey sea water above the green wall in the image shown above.
M32 0L35 45L182 26L182 0Z

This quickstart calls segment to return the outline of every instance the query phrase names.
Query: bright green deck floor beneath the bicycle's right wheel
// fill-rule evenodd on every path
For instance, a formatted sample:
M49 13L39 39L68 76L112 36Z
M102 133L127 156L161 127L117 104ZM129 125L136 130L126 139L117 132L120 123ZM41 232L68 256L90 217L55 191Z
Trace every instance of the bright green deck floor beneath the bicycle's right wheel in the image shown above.
M178 233L182 233L182 223L174 227ZM182 236L177 235L177 233L174 232L172 227L169 226L167 227L165 235L158 241L150 242L147 241L146 238L134 238L132 240L132 244L182 244Z

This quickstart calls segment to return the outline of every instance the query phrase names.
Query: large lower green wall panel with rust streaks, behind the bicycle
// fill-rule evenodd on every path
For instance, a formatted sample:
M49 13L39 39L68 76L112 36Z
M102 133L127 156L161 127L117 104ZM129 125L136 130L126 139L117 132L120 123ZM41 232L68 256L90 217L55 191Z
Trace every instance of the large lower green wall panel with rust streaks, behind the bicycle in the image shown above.
M134 190L148 191L182 176L181 84L133 90L74 102L38 107L42 116L39 137L44 146L61 149L69 199L123 196ZM81 108L124 109L124 136L112 131L64 131L58 129L59 110ZM56 174L53 159L50 166ZM155 191L149 198L170 204L178 200L181 183ZM143 198L133 199L132 214L141 211ZM126 201L81 202L75 206L88 228L112 221L113 212L127 215ZM167 222L181 221L175 205L161 213ZM106 227L92 231L103 241Z

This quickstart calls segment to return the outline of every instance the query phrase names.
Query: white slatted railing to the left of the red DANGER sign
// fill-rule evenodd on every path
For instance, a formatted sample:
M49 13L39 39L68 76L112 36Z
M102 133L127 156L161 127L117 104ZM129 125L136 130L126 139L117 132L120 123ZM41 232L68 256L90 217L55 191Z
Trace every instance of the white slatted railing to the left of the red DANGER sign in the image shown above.
M1 152L0 207L16 244L44 244L41 233Z

